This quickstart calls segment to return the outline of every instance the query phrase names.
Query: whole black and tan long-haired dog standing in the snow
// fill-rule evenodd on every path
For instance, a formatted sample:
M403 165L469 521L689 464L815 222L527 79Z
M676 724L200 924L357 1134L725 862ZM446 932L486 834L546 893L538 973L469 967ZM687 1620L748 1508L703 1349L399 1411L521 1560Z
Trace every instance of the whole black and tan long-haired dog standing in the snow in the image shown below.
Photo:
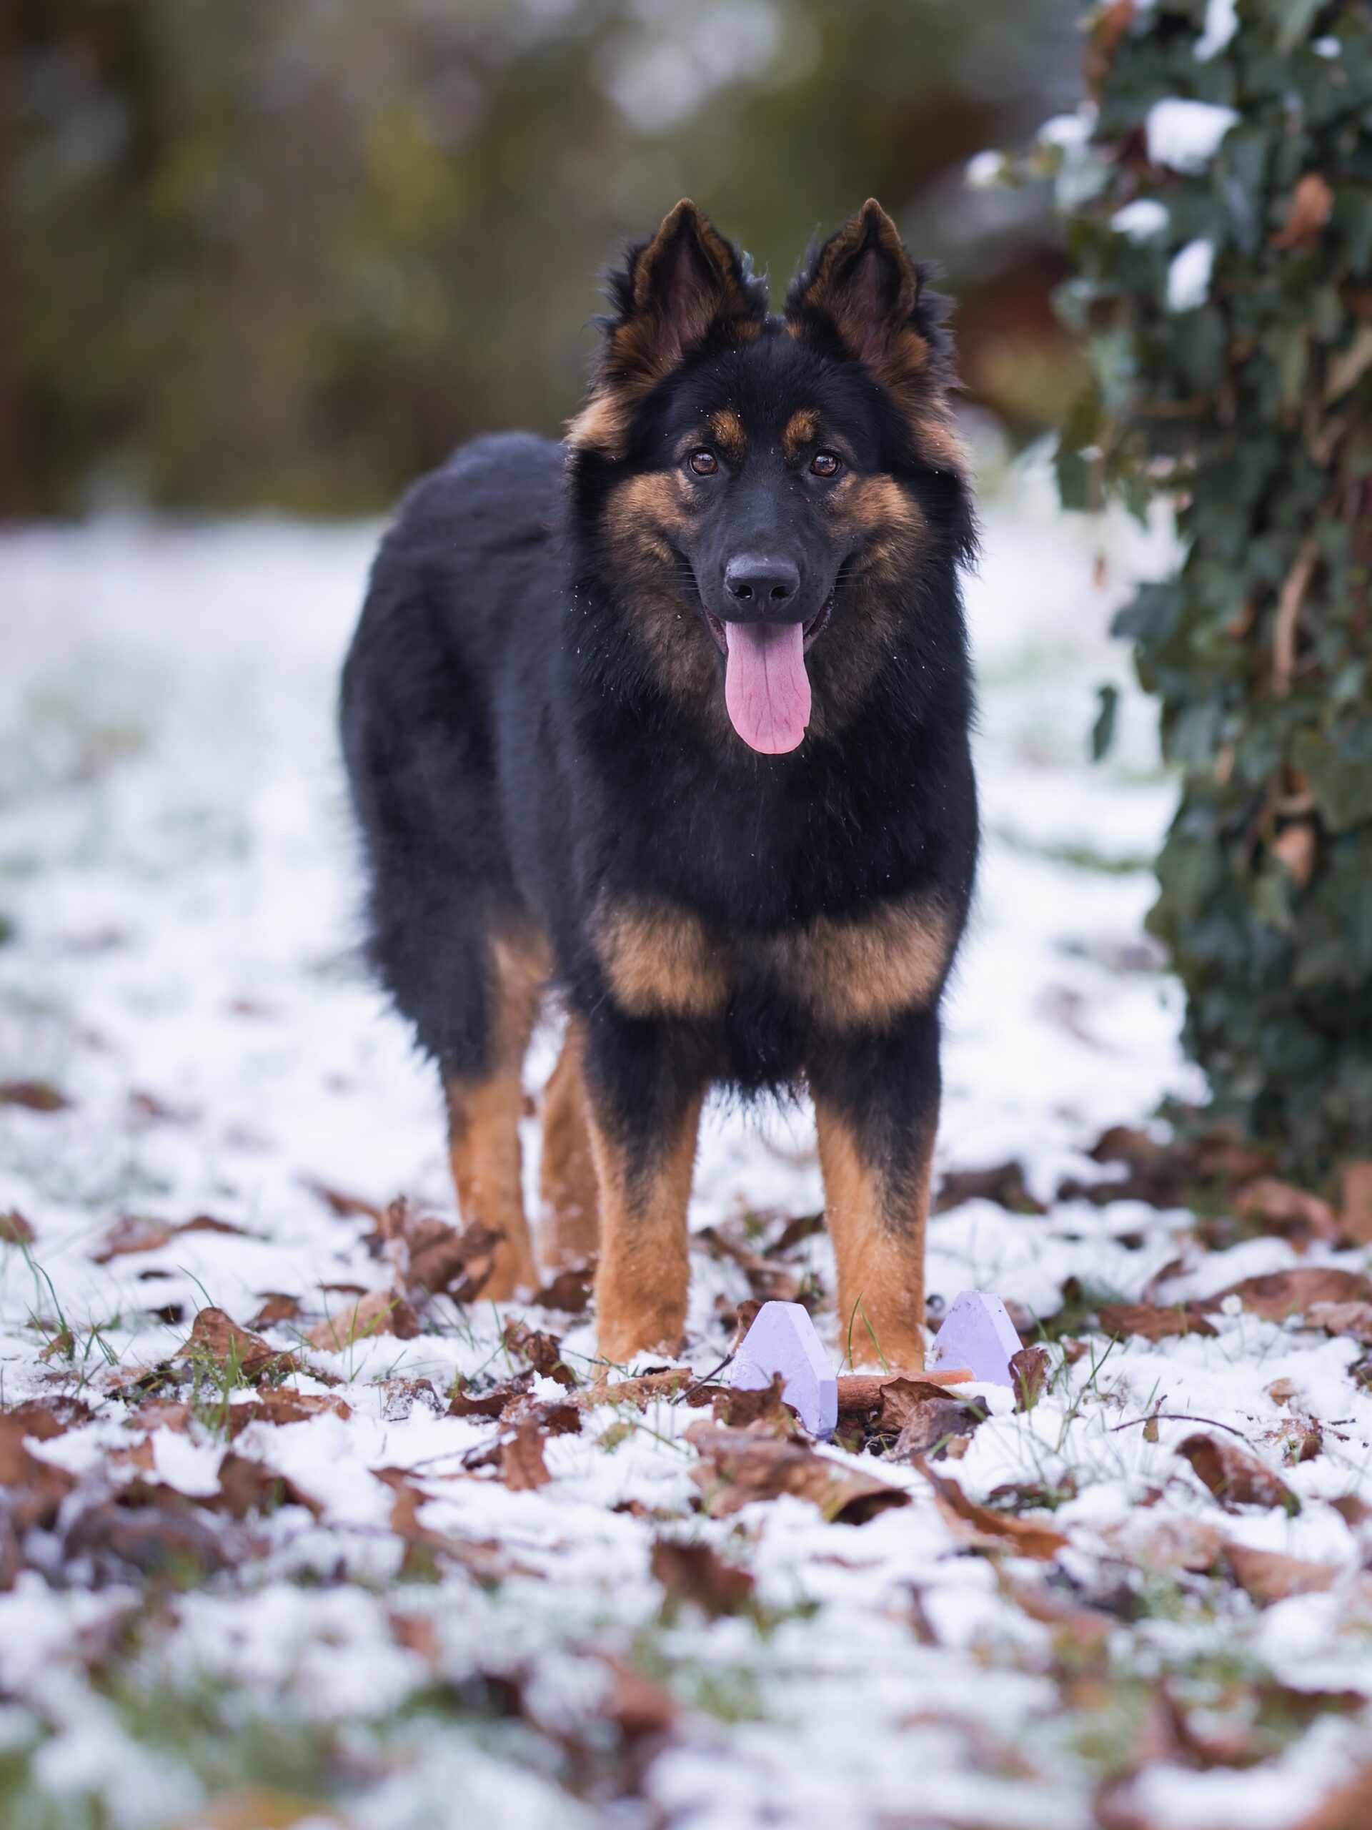
M814 1096L841 1332L924 1360L938 1003L977 800L944 302L867 203L785 313L691 203L611 280L565 445L406 498L344 675L371 957L443 1072L492 1294L534 1283L520 1071L549 988L549 1261L675 1351L712 1085Z

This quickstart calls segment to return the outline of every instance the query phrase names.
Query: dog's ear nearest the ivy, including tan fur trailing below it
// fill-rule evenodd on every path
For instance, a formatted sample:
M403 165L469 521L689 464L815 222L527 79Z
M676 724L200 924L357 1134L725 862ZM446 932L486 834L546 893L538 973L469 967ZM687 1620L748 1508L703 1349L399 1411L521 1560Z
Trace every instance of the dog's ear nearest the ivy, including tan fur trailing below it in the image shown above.
M900 231L867 198L807 262L787 295L792 337L834 348L869 368L895 395L926 456L960 468L948 423L953 386L946 300L929 293Z

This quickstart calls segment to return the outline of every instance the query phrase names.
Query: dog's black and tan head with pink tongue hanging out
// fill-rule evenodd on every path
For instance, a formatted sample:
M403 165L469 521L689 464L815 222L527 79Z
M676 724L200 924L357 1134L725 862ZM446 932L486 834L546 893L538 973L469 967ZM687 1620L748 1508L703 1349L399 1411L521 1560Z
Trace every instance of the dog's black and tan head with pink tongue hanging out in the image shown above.
M794 750L852 716L971 551L944 302L869 201L768 317L682 201L611 306L569 434L596 584L659 686Z

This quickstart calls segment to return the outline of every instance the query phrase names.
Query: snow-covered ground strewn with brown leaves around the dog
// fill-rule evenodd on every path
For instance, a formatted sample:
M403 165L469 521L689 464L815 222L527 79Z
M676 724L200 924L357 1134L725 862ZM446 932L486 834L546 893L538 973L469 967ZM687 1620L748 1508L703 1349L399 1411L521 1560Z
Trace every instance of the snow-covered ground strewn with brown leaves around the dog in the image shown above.
M1251 1290L1207 1332L1112 1345L1094 1319L1292 1268L1372 1296L1367 1254L1057 1195L1109 1173L1085 1155L1107 1125L1198 1093L1142 930L1173 789L1105 635L1165 542L1057 516L1037 474L988 507L988 844L940 1168L1017 1160L1046 1211L948 1208L929 1288L1048 1321L1050 1383L1028 1411L973 1387L986 1420L927 1473L827 1448L904 1501L856 1524L748 1499L710 1409L615 1400L584 1314L412 1285L419 1332L307 1340L406 1266L318 1184L456 1219L434 1076L355 957L333 701L375 534L0 540L0 1821L1372 1823L1361 1347ZM1090 765L1107 681L1121 734ZM541 1038L532 1089L549 1061ZM527 1168L532 1193L532 1120ZM776 1255L820 1200L803 1111L708 1114L697 1228L825 1290L823 1235ZM172 1232L194 1217L221 1224ZM710 1244L695 1374L750 1294ZM295 1369L262 1378L205 1310ZM512 1316L562 1338L563 1382L450 1415L459 1374L479 1396L521 1371ZM1226 1488L1218 1451L1176 1453L1196 1433L1282 1486L1244 1464Z

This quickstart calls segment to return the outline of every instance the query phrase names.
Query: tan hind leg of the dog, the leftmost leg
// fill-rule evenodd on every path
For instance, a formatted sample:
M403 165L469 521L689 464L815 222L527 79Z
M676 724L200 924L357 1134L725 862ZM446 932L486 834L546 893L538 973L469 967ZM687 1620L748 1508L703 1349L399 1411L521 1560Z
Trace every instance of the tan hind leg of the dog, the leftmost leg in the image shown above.
M531 930L488 942L487 1034L479 1072L446 1071L448 1157L465 1226L505 1235L485 1296L509 1301L538 1286L538 1266L523 1211L520 1118L523 1056L549 974L541 935Z

